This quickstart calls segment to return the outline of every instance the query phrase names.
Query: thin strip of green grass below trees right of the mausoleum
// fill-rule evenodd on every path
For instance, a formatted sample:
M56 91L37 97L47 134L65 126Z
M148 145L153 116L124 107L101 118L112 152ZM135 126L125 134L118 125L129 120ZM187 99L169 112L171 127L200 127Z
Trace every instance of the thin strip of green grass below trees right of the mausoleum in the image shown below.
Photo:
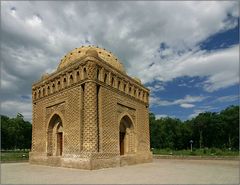
M152 149L153 154L182 156L239 156L239 151L204 148L191 150Z

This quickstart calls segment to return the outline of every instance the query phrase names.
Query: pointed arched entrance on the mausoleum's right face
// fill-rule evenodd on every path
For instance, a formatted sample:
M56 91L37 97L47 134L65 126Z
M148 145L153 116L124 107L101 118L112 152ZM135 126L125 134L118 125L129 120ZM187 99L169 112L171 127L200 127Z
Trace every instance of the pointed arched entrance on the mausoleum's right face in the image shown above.
M119 126L119 150L120 155L134 152L134 128L131 119L123 116Z

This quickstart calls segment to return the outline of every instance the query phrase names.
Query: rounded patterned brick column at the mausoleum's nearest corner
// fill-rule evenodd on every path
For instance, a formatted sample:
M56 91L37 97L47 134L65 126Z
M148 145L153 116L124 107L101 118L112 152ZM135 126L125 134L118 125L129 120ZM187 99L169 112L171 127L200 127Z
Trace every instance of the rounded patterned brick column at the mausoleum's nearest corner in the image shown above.
M84 87L83 151L98 151L96 64L88 61Z

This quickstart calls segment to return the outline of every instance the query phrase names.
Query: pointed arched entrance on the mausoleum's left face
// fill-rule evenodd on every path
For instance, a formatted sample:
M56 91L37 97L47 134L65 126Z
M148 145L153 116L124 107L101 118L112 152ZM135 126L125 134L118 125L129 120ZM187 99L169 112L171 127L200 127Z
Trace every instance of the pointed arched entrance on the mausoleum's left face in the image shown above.
M61 156L63 153L63 126L59 115L54 114L48 126L47 154Z

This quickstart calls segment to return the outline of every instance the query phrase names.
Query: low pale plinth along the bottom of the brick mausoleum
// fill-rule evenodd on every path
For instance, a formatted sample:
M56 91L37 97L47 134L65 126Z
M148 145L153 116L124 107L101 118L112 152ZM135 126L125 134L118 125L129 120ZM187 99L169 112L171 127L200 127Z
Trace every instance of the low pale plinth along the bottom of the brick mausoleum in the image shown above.
M55 167L78 168L96 170L101 168L120 167L140 163L152 162L152 153L139 153L129 155L115 155L104 157L104 155L72 155L72 156L47 156L46 153L29 153L30 164L39 164Z

